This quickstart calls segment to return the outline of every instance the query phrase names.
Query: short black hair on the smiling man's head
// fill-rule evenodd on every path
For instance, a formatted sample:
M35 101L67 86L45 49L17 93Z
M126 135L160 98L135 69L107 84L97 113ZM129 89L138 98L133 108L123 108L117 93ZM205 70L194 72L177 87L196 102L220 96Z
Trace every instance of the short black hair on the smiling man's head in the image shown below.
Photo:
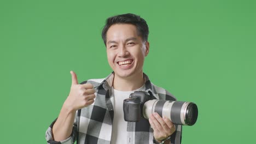
M104 44L106 45L106 40L107 40L107 31L110 26L118 23L127 23L127 24L132 24L135 25L137 28L137 33L141 38L145 41L148 41L148 25L147 22L142 19L139 15L135 14L123 14L123 15L115 15L112 17L108 17L106 20L106 25L102 29L101 37L104 41Z

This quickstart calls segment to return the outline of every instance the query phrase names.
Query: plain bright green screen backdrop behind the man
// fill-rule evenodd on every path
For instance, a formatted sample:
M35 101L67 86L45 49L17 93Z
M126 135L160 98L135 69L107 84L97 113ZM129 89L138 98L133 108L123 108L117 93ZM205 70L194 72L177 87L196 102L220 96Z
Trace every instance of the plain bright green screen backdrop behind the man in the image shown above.
M1 143L46 143L71 86L106 77L101 30L135 13L149 25L144 72L199 107L182 143L255 141L256 1L0 1Z

